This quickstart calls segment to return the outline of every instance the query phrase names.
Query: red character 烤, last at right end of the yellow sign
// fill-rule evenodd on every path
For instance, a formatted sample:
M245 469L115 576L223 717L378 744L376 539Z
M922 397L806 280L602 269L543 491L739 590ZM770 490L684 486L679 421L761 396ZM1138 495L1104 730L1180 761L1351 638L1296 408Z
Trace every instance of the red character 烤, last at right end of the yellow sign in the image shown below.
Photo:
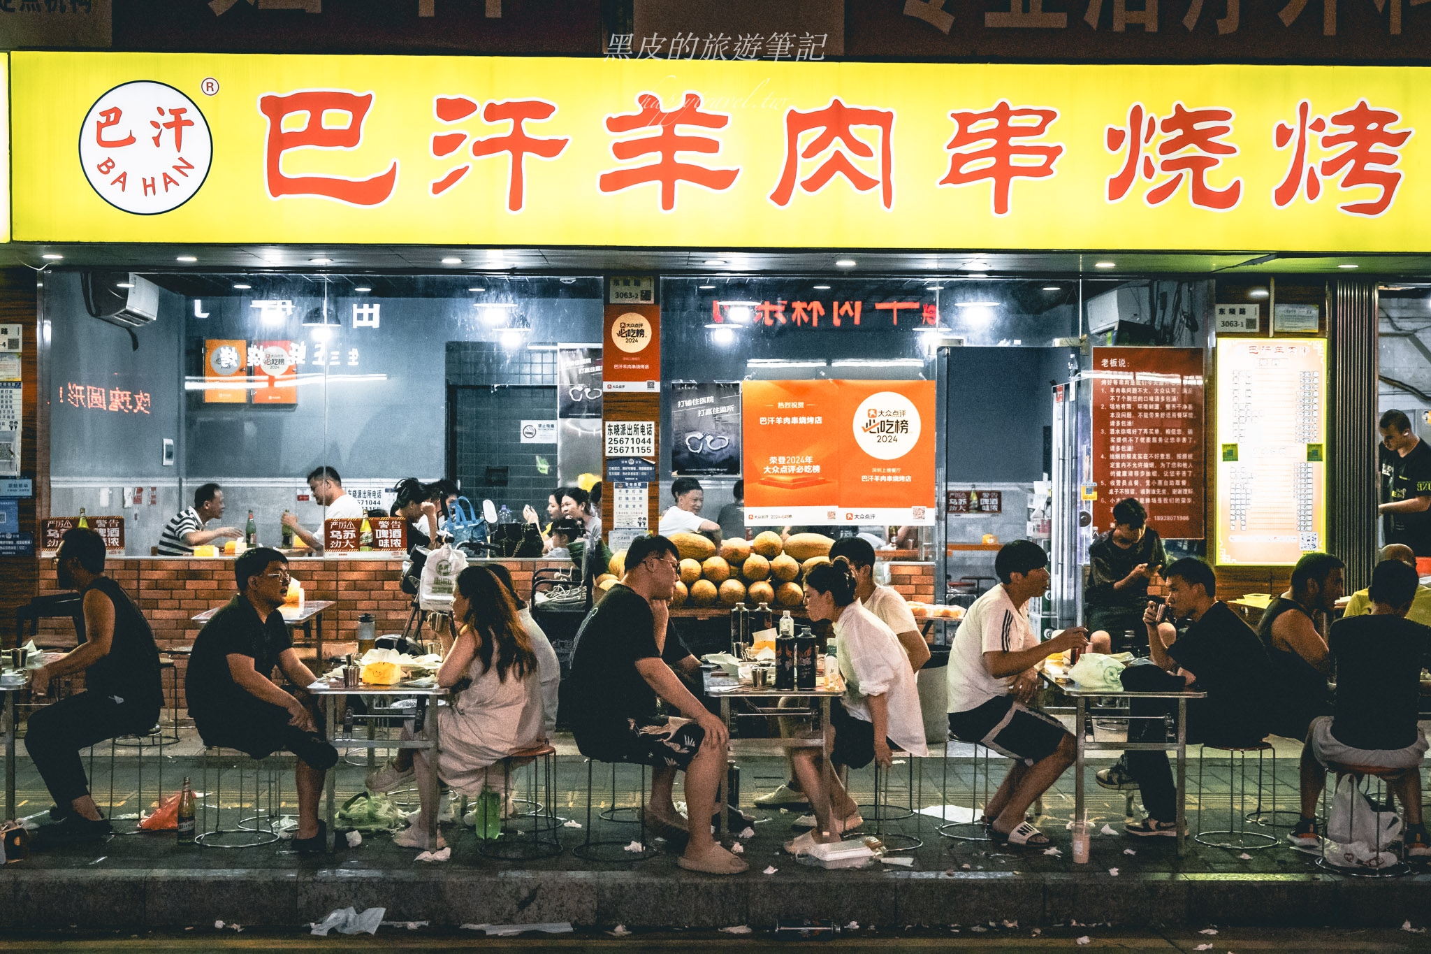
M1395 202L1397 187L1401 185L1401 172L1392 169L1401 162L1401 146L1411 137L1410 129L1392 130L1401 123L1401 114L1390 109L1374 109L1367 100L1358 100L1355 106L1331 117L1311 116L1311 103L1302 100L1296 104L1296 129L1286 123L1278 123L1272 133L1272 144L1276 149L1286 149L1295 137L1292 162L1281 185L1272 190L1272 205L1284 209L1292 205L1296 193L1302 192L1308 202L1317 202L1322 193L1322 179L1331 179L1342 173L1338 187L1358 189L1371 186L1378 189L1375 199L1361 199L1347 202L1339 206L1342 212L1354 216L1379 216ZM1309 159L1311 137L1319 137L1322 152L1337 150L1324 157L1319 163ZM1379 147L1379 149L1378 149Z

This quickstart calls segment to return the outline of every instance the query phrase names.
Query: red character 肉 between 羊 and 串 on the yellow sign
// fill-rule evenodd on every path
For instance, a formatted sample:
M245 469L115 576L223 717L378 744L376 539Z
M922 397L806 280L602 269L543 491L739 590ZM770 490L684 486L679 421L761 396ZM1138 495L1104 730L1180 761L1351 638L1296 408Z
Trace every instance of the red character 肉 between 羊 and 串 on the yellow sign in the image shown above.
M879 136L879 176L871 176L861 170L850 154L859 159L874 159L874 149L864 142L854 127L873 127ZM800 149L803 133L820 130L804 149ZM869 192L880 187L880 203L886 209L894 207L894 110L870 109L866 106L846 106L840 99L831 99L824 109L809 113L790 110L786 113L786 162L780 173L776 190L770 193L770 200L777 206L788 206L794 196L796 180L800 179L801 160L819 160L826 152L830 153L820 166L807 177L800 179L800 187L806 192L820 192L836 176L844 179L859 192ZM841 147L843 146L843 147ZM849 153L849 154L847 154Z

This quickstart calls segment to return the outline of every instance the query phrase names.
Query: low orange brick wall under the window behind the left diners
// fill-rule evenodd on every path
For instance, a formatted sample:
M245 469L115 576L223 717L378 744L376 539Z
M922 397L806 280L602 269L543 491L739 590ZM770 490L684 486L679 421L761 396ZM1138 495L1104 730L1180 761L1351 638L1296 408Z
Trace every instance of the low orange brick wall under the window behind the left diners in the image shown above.
M512 572L517 592L531 594L532 574L544 566L570 566L568 561L501 561ZM375 558L302 558L289 564L293 578L303 585L306 599L332 599L323 614L323 655L328 658L351 652L343 642L356 639L358 615L376 616L378 635L402 632L412 612L412 598L402 592L401 559ZM155 631L155 642L165 652L173 646L193 644L200 625L193 616L222 606L233 598L233 561L139 558L110 559L106 574L139 602L139 608ZM53 562L40 565L40 592L62 592L56 582ZM316 621L315 621L316 625ZM41 634L54 642L73 644L74 632L69 621L49 621ZM308 655L308 654L305 654ZM176 657L179 667L179 705L183 708L185 667L187 659ZM163 679L166 698L172 695L169 674ZM166 702L166 707L172 702Z

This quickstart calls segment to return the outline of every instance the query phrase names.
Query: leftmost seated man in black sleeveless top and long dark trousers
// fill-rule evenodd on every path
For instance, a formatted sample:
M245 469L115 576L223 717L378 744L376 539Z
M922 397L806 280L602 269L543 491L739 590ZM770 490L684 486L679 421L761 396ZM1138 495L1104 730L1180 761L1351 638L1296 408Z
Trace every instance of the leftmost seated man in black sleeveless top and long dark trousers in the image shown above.
M159 649L145 615L129 594L104 575L104 539L72 528L54 556L62 589L77 589L84 609L84 642L30 674L30 691L43 697L62 677L84 672L84 691L36 711L26 751L54 798L37 842L66 844L109 837L109 820L90 797L80 751L120 735L147 734L159 721L165 694Z

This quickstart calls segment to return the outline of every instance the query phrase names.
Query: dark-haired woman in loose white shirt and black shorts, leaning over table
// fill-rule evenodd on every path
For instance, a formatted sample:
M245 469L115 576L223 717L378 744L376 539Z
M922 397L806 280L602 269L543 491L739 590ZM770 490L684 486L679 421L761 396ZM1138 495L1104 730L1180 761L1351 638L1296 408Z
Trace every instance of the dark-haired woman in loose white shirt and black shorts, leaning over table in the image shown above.
M896 748L910 755L929 754L909 655L894 631L860 604L857 591L859 581L844 556L806 574L804 602L810 622L829 621L839 639L836 658L844 695L830 708L834 771L840 765L864 768L871 761L889 769ZM821 749L803 747L791 749L790 755L800 788L809 794L816 825L787 841L786 851L809 854L814 845L840 841L844 832L864 824L859 805L834 772L826 780Z

